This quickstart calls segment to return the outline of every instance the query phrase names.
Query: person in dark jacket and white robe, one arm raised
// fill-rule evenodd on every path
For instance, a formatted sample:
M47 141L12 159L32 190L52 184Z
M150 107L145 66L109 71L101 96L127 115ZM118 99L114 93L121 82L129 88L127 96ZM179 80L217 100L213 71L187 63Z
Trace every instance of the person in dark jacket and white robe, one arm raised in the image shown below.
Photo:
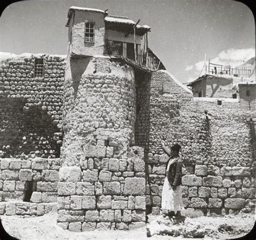
M180 210L183 207L181 190L181 169L183 162L179 157L181 146L176 143L169 148L165 146L163 140L161 144L166 154L170 156L170 159L166 162L161 209L164 215L175 218L181 216Z

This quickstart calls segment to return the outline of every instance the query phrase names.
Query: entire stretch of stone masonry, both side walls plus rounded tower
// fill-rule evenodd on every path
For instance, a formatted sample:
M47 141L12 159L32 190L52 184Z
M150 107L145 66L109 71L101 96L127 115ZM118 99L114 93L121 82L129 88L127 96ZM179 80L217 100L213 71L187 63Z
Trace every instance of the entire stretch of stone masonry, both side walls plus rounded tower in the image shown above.
M43 77L33 56L1 62L0 214L58 208L71 231L142 227L160 214L161 140L182 146L186 208L254 208L255 101L193 98L166 71L107 57L41 57Z

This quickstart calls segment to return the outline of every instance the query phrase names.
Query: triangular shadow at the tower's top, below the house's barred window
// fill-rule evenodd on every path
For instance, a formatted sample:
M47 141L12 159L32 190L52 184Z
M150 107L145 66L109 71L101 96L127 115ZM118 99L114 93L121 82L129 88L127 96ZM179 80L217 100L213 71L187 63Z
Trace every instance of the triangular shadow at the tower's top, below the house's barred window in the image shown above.
M75 99L77 97L78 86L80 84L81 77L85 72L91 58L72 58L70 59L70 68L72 74L72 86L74 90Z

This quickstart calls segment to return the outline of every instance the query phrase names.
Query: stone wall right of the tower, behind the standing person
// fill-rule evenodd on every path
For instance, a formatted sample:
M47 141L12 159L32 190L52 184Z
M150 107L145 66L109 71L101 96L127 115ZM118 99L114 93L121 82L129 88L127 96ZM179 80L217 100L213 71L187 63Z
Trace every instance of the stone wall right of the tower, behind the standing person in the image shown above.
M204 111L210 115L208 119ZM159 214L168 160L161 140L182 146L185 207L220 214L250 205L254 181L249 116L246 105L237 99L223 100L222 105L217 105L217 99L193 99L169 73L154 72L149 155L145 159L147 208L153 207L153 214Z

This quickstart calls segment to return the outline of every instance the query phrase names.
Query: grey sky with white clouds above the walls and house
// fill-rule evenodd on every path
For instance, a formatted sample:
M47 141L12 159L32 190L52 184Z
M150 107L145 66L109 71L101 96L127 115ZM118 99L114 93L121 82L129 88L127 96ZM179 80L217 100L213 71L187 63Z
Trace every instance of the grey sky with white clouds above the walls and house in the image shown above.
M106 10L151 26L149 47L181 83L199 77L205 59L238 66L255 56L252 11L228 0L61 0L9 5L0 20L0 51L66 54L70 6Z

